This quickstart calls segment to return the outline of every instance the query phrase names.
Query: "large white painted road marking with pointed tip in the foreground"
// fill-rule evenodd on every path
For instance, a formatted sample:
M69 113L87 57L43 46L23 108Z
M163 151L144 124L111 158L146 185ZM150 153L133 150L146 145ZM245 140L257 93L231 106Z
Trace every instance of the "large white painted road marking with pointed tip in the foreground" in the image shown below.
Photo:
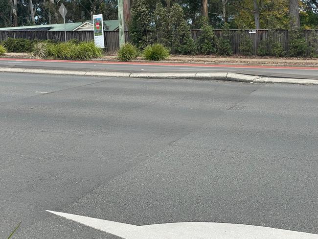
M87 216L48 211L124 239L318 239L317 234L214 222L177 222L136 226Z

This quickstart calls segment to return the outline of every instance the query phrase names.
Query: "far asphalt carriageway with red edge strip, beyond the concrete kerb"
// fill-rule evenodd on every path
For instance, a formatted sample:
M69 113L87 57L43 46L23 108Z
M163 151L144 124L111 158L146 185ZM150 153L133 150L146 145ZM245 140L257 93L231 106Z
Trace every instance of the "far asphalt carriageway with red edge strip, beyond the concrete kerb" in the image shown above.
M0 67L49 69L49 70L80 70L80 71L107 71L107 72L233 72L260 76L290 77L301 79L318 79L318 68L301 69L271 68L264 66L186 66L177 65L147 65L140 63L121 64L116 62L71 62L71 61L32 61L0 59Z

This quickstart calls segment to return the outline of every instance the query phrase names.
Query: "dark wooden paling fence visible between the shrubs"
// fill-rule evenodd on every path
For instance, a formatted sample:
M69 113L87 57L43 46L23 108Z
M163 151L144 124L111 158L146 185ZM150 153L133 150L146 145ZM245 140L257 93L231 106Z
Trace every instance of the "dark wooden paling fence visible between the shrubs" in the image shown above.
M214 30L215 38L222 35L223 30ZM191 30L191 35L194 40L200 36L201 30ZM240 40L242 32L248 35L252 41L253 52L256 54L257 47L261 40L272 38L273 42L280 42L285 51L289 48L289 30L256 30L255 33L249 33L249 30L229 30L230 43L233 49L233 54L240 54ZM309 42L311 33L318 34L318 30L304 30L304 37L308 44L314 44L314 47L318 47L317 39L313 43ZM160 38L160 31L148 31L148 36L156 41ZM64 31L0 31L0 41L7 38L25 38L29 40L56 40L65 41ZM67 31L67 40L77 39L80 41L92 41L94 35L92 31ZM119 48L119 35L118 31L105 31L104 32L105 47L107 51L115 51ZM129 40L128 31L125 32L126 41Z

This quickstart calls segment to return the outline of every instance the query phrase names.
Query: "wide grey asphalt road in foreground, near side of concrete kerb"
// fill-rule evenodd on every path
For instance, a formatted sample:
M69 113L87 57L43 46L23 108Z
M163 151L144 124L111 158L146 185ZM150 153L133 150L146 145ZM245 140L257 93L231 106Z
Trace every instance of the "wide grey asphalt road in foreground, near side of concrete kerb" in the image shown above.
M1 238L116 239L45 210L318 234L318 86L2 72L0 129Z

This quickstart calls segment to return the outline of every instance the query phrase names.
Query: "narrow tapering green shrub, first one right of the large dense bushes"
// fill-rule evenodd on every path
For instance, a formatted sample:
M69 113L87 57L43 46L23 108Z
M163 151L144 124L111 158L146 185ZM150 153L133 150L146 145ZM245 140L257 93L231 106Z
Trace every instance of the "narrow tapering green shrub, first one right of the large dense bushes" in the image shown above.
M215 52L214 48L214 30L208 23L206 17L200 21L201 33L197 40L197 46L200 53L209 55Z

